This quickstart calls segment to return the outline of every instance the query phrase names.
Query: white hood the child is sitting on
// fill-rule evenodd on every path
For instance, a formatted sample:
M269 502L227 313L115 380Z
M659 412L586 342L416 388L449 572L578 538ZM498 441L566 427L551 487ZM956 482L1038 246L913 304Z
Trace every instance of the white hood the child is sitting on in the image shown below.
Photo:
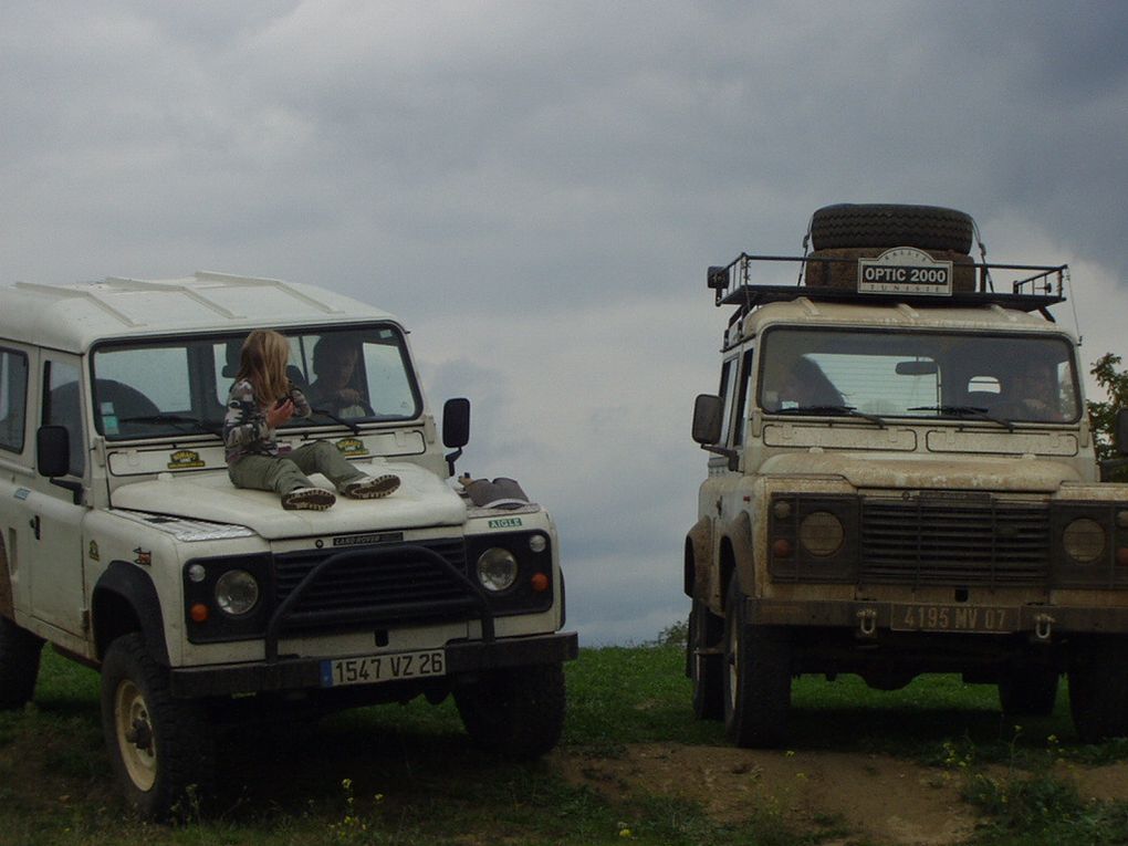
M264 538L460 526L466 505L446 482L411 464L356 464L370 475L394 473L399 488L381 500L337 496L327 511L287 511L279 495L231 484L226 472L162 474L150 482L123 485L113 493L114 508L195 520L246 526ZM314 475L312 481L324 482Z

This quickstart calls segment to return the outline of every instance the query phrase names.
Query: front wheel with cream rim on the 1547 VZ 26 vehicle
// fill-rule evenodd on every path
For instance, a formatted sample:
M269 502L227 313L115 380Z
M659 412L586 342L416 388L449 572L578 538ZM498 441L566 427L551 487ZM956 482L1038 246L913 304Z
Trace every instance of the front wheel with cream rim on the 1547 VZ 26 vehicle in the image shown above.
M102 664L102 728L126 801L147 820L193 817L211 794L214 735L202 708L169 694L168 669L138 633Z

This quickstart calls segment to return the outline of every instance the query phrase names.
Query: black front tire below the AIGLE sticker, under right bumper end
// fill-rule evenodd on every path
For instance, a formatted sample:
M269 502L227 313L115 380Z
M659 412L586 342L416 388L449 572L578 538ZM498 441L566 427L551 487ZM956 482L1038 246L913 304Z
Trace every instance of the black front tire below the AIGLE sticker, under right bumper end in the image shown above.
M559 742L564 730L564 667L492 670L455 688L455 704L466 733L479 748L537 758Z

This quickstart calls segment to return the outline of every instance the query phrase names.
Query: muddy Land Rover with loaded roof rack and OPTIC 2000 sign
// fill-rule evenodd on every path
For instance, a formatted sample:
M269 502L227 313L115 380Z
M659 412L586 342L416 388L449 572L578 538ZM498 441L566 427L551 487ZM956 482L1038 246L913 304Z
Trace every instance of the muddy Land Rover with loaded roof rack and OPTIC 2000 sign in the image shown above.
M1100 484L1050 316L1068 271L976 262L975 235L834 205L803 256L708 268L731 312L694 414L686 670L739 746L784 742L800 673L962 673L1014 715L1065 673L1083 740L1128 733L1128 486Z

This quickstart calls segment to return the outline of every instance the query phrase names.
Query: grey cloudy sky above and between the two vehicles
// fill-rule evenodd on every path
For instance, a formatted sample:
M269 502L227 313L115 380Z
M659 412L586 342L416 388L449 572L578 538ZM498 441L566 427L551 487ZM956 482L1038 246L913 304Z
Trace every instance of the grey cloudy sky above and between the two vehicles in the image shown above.
M459 469L553 511L570 627L684 619L725 315L811 212L971 213L1128 353L1128 3L3 0L0 283L214 270L397 314Z

